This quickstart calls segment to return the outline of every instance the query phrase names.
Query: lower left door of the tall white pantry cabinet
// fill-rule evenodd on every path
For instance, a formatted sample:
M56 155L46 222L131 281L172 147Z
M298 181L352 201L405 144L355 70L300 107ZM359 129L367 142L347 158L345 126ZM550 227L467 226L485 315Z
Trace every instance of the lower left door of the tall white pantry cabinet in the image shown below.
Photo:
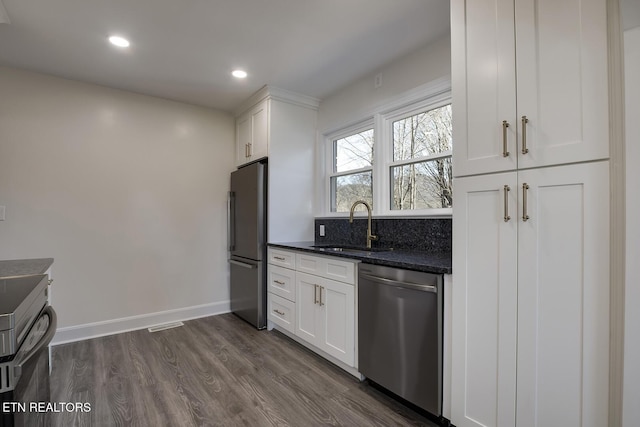
M458 427L513 426L516 173L456 178L453 185L451 421Z

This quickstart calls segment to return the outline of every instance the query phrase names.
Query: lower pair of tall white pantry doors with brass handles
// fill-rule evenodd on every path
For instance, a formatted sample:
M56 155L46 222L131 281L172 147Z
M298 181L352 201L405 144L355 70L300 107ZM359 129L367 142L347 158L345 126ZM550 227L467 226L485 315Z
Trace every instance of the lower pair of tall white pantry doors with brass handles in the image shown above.
M451 421L608 424L609 163L454 181Z

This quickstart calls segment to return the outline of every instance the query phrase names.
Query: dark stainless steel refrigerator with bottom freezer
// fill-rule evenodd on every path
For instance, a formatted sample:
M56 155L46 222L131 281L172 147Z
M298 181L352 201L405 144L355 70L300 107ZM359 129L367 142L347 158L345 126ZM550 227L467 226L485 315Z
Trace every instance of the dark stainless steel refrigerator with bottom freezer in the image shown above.
M267 325L267 160L231 173L229 191L231 311L258 329Z

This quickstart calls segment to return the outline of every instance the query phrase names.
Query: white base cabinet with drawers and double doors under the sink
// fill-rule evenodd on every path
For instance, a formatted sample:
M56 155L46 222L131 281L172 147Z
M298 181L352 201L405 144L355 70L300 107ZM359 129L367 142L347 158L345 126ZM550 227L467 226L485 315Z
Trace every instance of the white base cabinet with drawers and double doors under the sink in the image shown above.
M312 348L356 366L356 264L269 248L268 319Z

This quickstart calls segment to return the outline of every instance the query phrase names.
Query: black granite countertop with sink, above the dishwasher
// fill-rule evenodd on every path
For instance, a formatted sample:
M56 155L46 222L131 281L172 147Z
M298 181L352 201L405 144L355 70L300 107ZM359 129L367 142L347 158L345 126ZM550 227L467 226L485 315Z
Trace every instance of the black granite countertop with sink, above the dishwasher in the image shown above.
M327 251L322 247L313 247L314 242L286 242L269 243L270 247L293 249L304 252L312 252L318 255L330 255L341 258L350 258L367 264L384 265L387 267L406 268L409 270L423 271L426 273L451 274L451 252L422 252L414 250L391 250L372 252L343 252ZM322 246L331 247L331 243L322 242ZM336 244L335 246L340 246Z

